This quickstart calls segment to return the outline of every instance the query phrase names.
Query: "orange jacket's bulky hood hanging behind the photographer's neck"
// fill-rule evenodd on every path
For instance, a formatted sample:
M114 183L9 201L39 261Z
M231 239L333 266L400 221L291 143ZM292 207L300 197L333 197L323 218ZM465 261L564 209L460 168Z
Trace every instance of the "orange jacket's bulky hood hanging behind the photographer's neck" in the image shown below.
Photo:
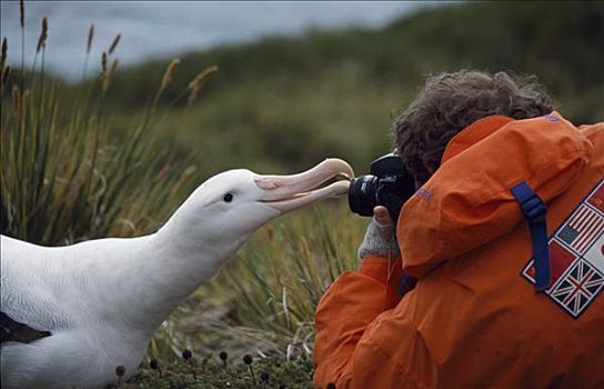
M422 278L525 220L510 191L526 181L546 203L593 158L591 141L557 112L474 122L447 144L441 167L403 206L397 238L403 268Z

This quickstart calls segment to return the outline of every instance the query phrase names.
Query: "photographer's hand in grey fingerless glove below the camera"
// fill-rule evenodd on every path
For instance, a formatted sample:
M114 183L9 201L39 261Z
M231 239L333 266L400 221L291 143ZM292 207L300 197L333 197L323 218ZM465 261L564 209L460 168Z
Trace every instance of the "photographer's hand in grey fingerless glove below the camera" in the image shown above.
M385 257L391 258L399 255L396 242L396 227L386 207L373 208L373 219L365 232L365 239L359 247L359 258Z

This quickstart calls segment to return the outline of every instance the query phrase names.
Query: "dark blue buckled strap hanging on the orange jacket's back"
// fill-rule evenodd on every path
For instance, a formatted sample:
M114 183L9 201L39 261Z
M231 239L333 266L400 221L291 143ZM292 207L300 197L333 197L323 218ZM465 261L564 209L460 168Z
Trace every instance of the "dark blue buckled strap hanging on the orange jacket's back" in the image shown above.
M552 283L545 220L547 207L526 181L512 187L511 191L520 203L524 217L528 220L531 240L533 241L535 289L537 292L542 292L548 289Z

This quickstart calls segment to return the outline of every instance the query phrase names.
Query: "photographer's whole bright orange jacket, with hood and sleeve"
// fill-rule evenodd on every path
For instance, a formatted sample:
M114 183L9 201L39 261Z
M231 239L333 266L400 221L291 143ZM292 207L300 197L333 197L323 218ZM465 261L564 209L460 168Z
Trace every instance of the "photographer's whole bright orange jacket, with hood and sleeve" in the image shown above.
M401 211L402 267L365 258L323 296L315 386L604 388L603 177L604 123L553 112L465 128ZM542 293L510 191L521 181L547 205ZM403 270L419 282L401 299Z

